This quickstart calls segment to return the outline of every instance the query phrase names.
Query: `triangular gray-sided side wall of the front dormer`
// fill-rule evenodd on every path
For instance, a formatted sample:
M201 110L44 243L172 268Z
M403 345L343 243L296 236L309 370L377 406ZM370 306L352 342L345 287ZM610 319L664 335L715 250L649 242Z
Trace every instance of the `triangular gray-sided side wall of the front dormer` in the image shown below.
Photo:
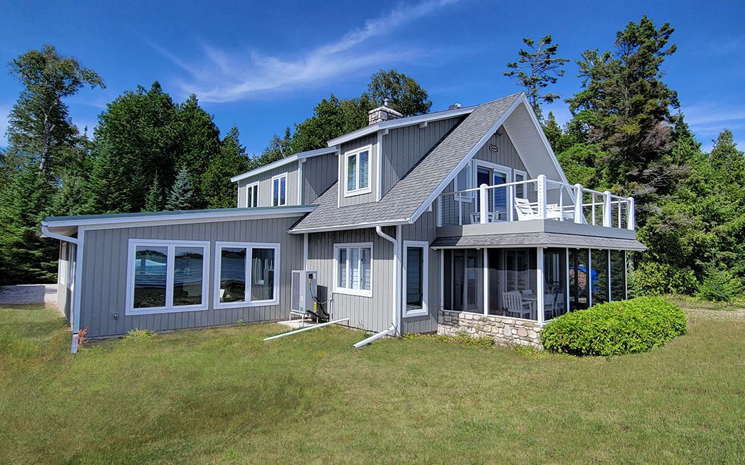
M465 117L391 129L382 138L382 193L384 196L422 157Z

